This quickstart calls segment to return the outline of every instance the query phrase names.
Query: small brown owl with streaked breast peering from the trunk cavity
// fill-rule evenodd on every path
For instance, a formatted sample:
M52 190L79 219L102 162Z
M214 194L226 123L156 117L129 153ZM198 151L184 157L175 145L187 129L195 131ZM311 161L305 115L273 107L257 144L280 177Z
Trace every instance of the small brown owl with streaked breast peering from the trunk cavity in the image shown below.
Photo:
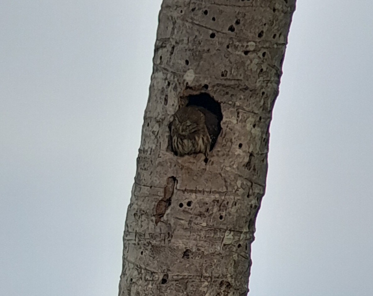
M201 106L185 106L173 116L170 124L172 150L177 156L203 153L213 149L220 133L220 122Z

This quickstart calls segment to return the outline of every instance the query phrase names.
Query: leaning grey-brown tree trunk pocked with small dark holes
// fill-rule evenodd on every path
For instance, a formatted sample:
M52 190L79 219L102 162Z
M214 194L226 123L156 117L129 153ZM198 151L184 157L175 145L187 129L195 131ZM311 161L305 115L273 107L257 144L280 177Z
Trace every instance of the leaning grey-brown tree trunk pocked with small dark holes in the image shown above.
M294 9L295 0L163 0L119 296L247 294ZM170 149L169 124L191 97L221 109L208 159Z

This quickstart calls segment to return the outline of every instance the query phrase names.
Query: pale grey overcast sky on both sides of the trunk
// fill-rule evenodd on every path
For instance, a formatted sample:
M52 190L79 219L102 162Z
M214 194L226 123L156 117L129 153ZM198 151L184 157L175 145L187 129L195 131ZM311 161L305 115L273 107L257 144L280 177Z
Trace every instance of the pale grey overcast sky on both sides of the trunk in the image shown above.
M160 3L0 2L1 295L117 295ZM373 295L372 11L298 0L249 295Z

